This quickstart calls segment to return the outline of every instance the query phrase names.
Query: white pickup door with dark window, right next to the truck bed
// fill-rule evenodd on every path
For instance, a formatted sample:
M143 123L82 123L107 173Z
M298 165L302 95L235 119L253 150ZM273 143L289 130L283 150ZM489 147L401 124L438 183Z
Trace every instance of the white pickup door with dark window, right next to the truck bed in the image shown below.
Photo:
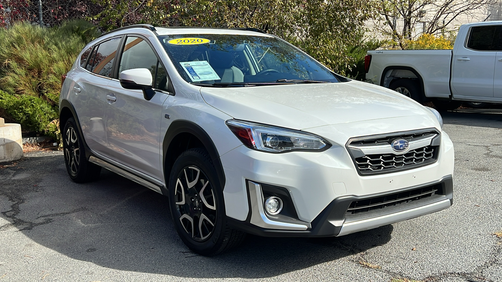
M467 43L453 56L452 92L462 96L493 97L496 45L500 26L474 26ZM502 63L502 62L501 62Z

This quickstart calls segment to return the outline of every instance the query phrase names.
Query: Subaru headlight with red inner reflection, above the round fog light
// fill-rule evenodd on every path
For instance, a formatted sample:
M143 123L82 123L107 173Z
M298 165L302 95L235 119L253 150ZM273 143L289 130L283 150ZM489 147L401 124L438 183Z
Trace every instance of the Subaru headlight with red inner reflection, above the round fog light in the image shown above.
M227 120L226 125L249 149L269 153L290 151L321 152L331 147L323 138L311 133L272 125Z

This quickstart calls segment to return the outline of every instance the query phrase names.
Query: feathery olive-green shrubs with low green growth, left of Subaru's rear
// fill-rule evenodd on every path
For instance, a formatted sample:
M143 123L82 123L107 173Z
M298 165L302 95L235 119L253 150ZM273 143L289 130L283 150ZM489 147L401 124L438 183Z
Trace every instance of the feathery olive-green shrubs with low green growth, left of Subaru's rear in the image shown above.
M78 20L40 28L17 23L0 29L0 108L23 129L55 135L61 75L99 32Z

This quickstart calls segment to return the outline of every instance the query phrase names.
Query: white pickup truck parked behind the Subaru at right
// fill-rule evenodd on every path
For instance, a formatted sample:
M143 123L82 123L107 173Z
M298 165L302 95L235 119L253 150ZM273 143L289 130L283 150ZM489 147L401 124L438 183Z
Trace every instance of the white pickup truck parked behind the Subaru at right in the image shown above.
M453 50L368 51L366 79L440 109L502 103L501 29L502 21L462 25Z

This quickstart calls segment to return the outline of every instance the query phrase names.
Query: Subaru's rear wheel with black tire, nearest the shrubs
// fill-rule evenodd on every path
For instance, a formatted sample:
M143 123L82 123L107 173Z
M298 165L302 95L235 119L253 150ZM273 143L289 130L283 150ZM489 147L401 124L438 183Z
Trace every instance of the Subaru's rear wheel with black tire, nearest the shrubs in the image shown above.
M64 161L71 180L76 183L96 180L101 173L101 167L85 158L82 137L73 117L68 118L62 133Z

